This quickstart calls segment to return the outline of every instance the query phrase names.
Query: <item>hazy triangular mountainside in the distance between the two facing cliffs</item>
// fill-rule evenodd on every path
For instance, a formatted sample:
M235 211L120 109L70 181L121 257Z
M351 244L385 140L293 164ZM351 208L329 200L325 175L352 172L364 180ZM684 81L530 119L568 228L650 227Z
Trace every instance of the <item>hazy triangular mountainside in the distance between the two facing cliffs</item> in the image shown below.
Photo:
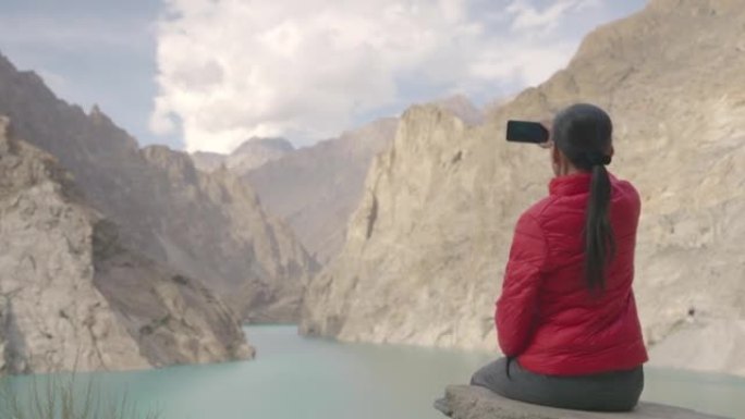
M344 243L373 157L390 145L398 119L382 119L339 138L301 148L248 172L261 204L288 222L326 263Z

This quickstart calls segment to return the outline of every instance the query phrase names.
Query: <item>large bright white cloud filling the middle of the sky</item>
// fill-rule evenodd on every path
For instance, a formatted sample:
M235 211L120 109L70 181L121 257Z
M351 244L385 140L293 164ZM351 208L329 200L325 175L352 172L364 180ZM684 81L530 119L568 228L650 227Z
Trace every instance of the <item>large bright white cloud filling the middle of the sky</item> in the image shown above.
M560 21L595 1L167 0L150 128L224 152L253 135L329 137L445 93L497 96L567 62L577 39Z

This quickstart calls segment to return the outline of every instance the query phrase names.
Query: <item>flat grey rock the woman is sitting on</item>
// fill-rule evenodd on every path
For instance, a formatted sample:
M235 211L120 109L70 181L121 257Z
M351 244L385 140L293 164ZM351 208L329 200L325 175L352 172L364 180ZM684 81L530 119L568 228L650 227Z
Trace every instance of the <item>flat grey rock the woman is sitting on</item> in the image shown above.
M445 402L453 419L724 419L679 407L644 402L633 412L624 414L554 409L511 400L487 389L469 385L449 386L445 391Z

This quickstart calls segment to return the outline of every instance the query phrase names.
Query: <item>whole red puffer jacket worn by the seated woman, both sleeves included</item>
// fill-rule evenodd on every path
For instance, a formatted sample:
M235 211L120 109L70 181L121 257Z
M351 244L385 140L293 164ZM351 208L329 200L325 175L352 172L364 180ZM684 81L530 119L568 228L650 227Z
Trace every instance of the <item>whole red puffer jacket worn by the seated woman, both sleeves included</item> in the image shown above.
M639 196L611 175L616 252L606 270L607 291L595 296L584 275L590 180L588 173L554 177L549 196L515 227L497 301L497 334L504 355L536 373L583 375L647 361L632 291Z

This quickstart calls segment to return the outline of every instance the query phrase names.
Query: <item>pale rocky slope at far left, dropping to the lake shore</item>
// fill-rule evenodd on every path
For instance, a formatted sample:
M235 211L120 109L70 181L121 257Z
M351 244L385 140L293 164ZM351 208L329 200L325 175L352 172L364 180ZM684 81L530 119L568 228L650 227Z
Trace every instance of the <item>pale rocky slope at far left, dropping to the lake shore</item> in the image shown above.
M126 249L54 158L0 116L0 374L253 356L200 283Z

